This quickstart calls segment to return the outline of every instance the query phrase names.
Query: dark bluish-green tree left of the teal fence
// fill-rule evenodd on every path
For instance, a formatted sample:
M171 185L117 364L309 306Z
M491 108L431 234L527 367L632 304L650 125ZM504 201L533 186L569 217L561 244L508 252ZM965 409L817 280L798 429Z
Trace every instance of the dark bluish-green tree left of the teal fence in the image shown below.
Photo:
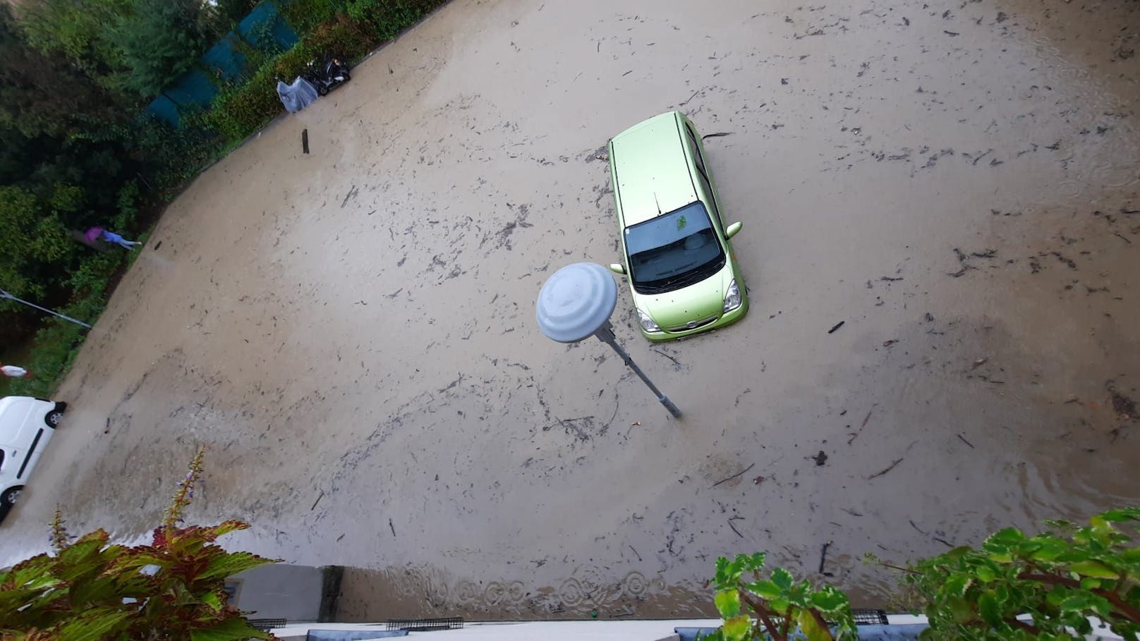
M122 86L157 96L198 60L213 40L198 0L136 0L113 31L127 72Z

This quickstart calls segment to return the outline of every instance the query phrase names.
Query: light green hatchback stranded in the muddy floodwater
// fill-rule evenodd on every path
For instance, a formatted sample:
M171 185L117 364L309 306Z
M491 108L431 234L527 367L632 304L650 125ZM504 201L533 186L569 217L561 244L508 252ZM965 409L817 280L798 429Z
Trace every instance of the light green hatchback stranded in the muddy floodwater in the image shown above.
M642 334L683 339L748 313L748 292L709 178L705 147L681 112L653 116L610 140L625 265Z

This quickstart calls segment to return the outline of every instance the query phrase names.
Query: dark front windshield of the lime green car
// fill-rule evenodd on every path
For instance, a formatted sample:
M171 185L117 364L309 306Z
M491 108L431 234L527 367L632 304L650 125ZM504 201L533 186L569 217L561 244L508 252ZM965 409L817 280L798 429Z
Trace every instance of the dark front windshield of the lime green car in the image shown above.
M642 294L691 285L724 267L724 251L700 201L626 228L629 278Z

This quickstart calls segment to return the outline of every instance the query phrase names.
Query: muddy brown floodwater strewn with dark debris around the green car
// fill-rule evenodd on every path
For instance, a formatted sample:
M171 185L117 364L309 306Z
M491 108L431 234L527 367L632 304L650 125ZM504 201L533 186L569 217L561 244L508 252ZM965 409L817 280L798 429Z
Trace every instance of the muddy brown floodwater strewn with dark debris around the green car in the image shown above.
M347 619L710 612L717 555L817 576L829 541L881 605L864 552L1135 503L1138 33L1124 1L456 0L170 206L0 555L56 503L145 534L199 443L192 518L359 568ZM622 295L679 422L532 307L618 258L598 154L670 108L725 133L752 300L654 347Z

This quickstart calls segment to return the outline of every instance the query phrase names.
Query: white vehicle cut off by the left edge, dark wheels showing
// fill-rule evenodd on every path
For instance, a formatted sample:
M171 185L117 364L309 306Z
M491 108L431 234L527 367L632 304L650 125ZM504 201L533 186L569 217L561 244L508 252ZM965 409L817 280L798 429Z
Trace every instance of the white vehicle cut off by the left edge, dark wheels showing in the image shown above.
M30 396L0 398L0 514L19 498L67 404Z

